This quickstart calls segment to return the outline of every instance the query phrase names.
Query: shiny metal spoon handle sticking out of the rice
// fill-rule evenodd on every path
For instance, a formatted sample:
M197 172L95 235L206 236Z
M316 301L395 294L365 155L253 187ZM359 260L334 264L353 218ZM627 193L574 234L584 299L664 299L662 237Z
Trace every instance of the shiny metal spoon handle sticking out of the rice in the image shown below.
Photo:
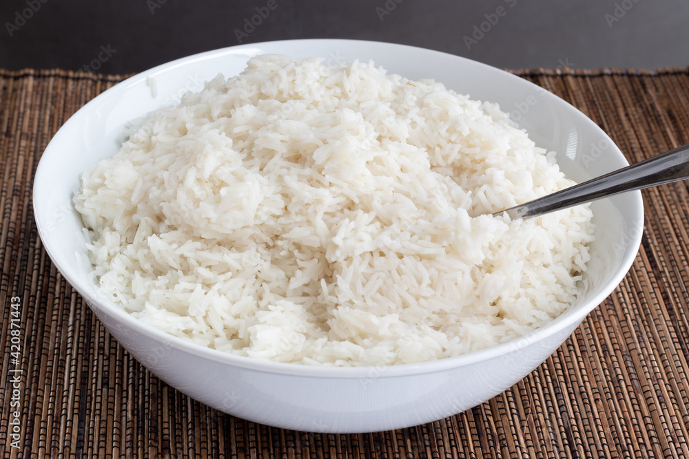
M537 217L584 202L608 198L625 191L641 190L686 178L689 178L689 144L601 175L588 182L570 186L543 198L495 212L493 215L506 212L512 220Z

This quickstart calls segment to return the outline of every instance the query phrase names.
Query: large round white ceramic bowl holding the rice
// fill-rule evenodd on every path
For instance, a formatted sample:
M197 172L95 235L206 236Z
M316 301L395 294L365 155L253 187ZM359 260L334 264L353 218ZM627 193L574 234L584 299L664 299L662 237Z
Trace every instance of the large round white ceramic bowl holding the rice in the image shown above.
M86 167L119 148L132 118L176 103L218 73L242 71L256 54L326 61L373 59L408 78L434 78L473 99L500 103L537 145L557 151L573 180L624 167L613 142L564 100L502 70L416 47L345 40L255 43L205 52L138 74L80 109L45 149L34 181L34 213L52 261L107 330L154 374L216 409L258 423L306 431L378 431L418 425L469 409L520 381L613 291L641 240L639 192L593 204L595 242L588 287L544 328L494 348L394 367L332 368L272 363L223 354L154 330L99 296L72 193Z

